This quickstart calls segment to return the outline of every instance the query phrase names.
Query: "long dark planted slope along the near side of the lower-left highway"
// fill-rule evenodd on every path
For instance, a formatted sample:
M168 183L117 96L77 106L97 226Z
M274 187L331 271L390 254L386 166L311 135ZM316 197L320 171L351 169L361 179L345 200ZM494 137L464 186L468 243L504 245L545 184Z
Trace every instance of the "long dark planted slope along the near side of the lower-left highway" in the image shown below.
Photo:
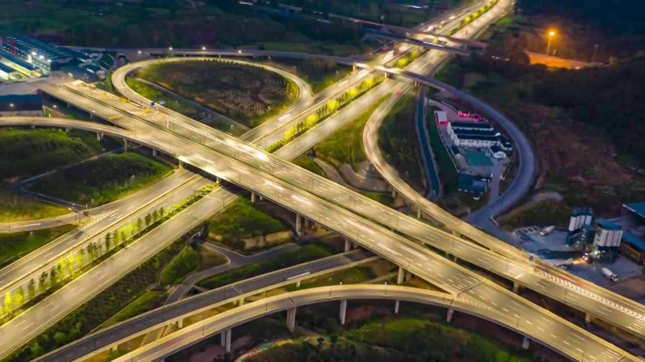
M132 301L143 296L146 288L157 283L163 266L179 254L185 245L186 242L181 239L168 245L163 251L139 265L137 269L99 292L94 298L10 354L6 361L30 361L96 329L110 316L114 316Z

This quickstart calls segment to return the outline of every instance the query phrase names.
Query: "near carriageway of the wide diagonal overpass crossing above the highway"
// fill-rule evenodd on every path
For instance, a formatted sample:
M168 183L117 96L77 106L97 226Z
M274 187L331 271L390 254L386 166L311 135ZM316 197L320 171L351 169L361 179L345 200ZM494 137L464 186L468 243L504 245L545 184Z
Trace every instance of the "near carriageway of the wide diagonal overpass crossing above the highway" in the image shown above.
M117 119L115 122L120 123L126 118ZM59 126L72 127L74 122L78 121L66 120ZM135 137L137 142L147 142L146 144L152 148L174 154L182 162L190 163L224 180L250 189L253 193L277 202L295 213L323 225L323 227L337 231L453 295L481 300L481 303L492 309L508 310L510 314L533 316L532 323L544 330L566 328L566 325L570 325L554 314L519 298L486 278L482 278L468 269L428 251L428 249L419 247L384 227L373 224L342 207L330 204L309 193L303 193L292 184L268 176L266 173L239 162L239 160L246 160L248 156L264 159L262 153L257 153L250 146L244 145L241 149L242 152L237 157L229 158L193 142L185 142L184 138L171 135L165 130L149 126L147 123L135 120L127 120L127 122L136 122L131 124L138 129ZM152 142L151 139L155 142ZM226 140L220 142L226 143ZM206 141L204 143L206 146L213 146L213 143L220 145L220 142ZM176 145L174 148L172 148L173 143ZM247 156L244 152L252 152L252 154ZM268 160L264 162L270 164ZM293 166L291 167L293 168ZM604 353L613 356L611 359L606 359L607 361L620 360L624 355L624 352L619 348L613 347L591 334L588 334L584 342L571 339L567 343L575 344L581 350L588 348L585 347L585 343L592 345L600 343L604 346L602 347Z

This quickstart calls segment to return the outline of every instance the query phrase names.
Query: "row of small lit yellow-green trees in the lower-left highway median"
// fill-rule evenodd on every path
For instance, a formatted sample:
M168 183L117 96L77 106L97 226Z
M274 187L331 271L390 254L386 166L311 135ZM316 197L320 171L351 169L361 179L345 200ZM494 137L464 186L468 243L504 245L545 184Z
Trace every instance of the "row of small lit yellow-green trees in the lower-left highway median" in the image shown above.
M121 229L115 229L111 233L106 233L102 240L90 242L84 248L79 249L75 254L69 254L65 258L59 260L52 269L43 271L38 277L37 281L34 279L27 283L27 290L23 286L19 286L14 292L7 292L4 298L4 304L1 305L3 316L12 318L14 312L23 307L26 302L32 301L36 296L43 295L46 292L59 286L63 281L69 281L74 278L76 273L79 273L83 268L86 258L90 263L98 260L107 252L114 249L118 245L134 238L137 234L147 230L151 225L161 220L166 214L164 207L146 214L143 218L138 218L136 222L123 226ZM145 228L143 227L145 225ZM62 285L61 285L62 286Z

